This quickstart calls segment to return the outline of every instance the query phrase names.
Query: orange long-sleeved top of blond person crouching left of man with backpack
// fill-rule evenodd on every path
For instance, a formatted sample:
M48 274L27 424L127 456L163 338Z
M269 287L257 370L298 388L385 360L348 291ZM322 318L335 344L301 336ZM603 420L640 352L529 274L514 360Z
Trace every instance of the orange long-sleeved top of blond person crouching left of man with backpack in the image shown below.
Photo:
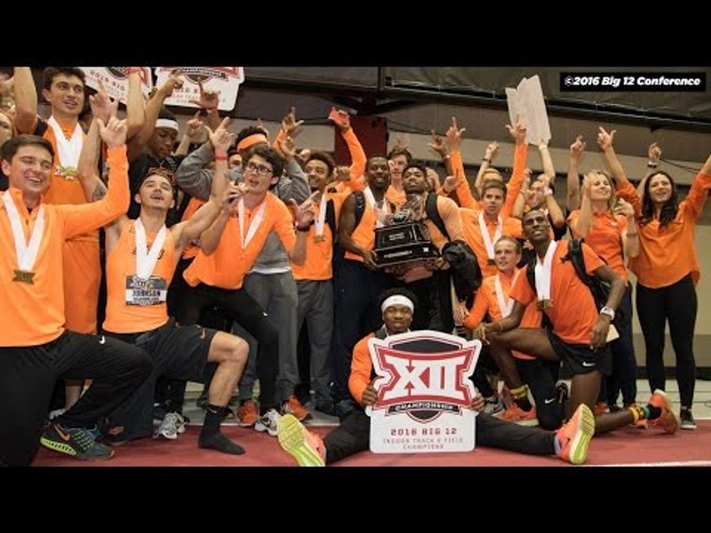
M525 277L525 269L515 269L514 276L516 272L520 272L518 277ZM503 292L503 297L508 298L511 292L511 281L503 272L498 272L501 278L501 291ZM483 321L484 316L488 313L489 318L492 322L498 322L503 318L503 313L501 312L501 306L498 305L498 298L496 297L496 276L487 276L483 279L481 283L481 288L476 291L476 296L474 296L474 305L471 307L469 316L464 318L464 325L467 328L473 330L478 326L481 321ZM521 319L521 328L540 328L541 323L541 312L538 311L538 306L535 302L531 302L526 306L526 310L523 313L523 318ZM514 357L519 359L535 359L530 355L526 355L523 352L517 352L515 350L511 351Z

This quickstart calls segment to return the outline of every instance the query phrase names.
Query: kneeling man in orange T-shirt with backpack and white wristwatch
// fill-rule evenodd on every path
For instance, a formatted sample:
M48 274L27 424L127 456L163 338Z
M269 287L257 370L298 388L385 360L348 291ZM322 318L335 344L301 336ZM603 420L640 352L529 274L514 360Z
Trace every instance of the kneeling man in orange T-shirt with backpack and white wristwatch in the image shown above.
M610 322L624 293L624 281L587 244L582 244L585 270L610 284L605 306L597 310L592 291L579 278L569 257L568 241L552 241L547 216L539 210L523 215L523 235L536 251L535 287L527 276L518 276L510 297L515 300L510 315L481 324L479 338L501 348L561 361L573 373L568 407L586 404L592 409L602 376L609 374L611 356L607 346ZM550 319L552 330L519 328L526 306L538 299ZM663 391L655 390L648 404L630 406L616 413L595 417L596 433L612 431L641 419L653 420L668 433L679 426L678 415Z

